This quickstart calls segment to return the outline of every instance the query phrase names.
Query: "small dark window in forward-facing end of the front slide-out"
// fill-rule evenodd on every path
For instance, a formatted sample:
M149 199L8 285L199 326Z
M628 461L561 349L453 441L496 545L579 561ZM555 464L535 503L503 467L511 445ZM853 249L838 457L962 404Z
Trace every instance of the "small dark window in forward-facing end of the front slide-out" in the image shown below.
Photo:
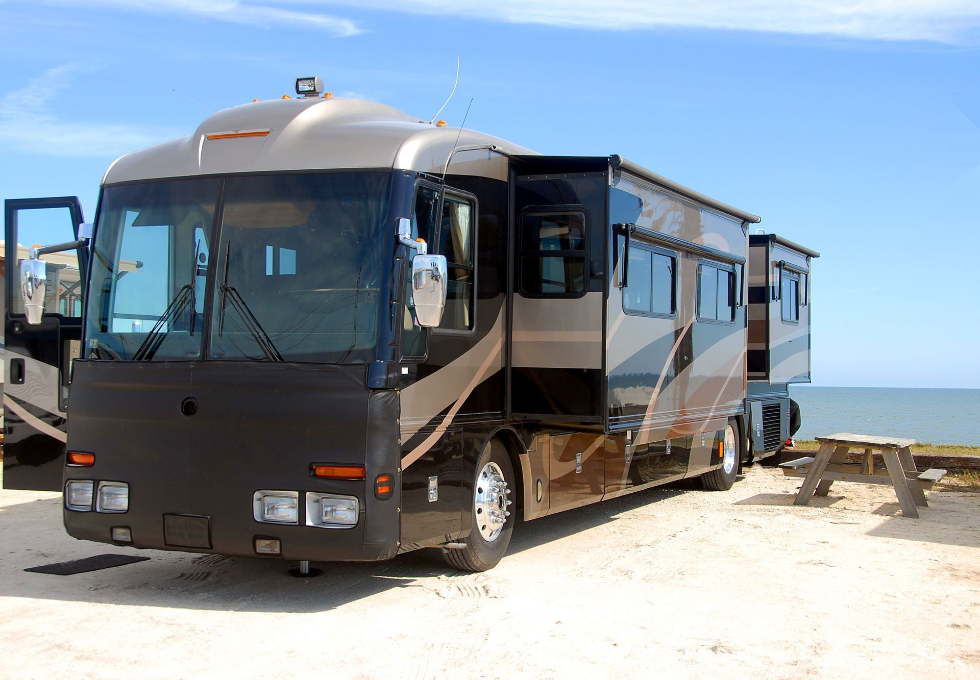
M535 297L585 294L585 214L535 211L520 224L520 292Z

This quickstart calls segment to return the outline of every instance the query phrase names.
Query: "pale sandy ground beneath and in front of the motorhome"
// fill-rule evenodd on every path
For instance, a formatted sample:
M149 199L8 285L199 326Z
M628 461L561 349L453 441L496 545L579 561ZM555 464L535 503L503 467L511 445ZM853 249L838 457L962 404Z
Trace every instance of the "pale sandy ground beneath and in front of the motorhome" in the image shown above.
M458 574L428 551L291 563L146 551L75 576L60 496L0 492L0 676L980 677L980 494L919 519L886 487L758 465L726 493L655 489L516 527Z

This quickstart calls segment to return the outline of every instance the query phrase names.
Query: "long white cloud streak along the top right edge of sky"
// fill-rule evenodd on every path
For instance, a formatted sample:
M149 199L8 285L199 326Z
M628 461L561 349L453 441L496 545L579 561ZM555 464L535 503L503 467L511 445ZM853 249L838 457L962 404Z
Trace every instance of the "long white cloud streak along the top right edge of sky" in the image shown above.
M268 0L276 2L277 0ZM726 28L873 40L980 43L976 0L299 0L510 24ZM297 0L281 0L296 5Z

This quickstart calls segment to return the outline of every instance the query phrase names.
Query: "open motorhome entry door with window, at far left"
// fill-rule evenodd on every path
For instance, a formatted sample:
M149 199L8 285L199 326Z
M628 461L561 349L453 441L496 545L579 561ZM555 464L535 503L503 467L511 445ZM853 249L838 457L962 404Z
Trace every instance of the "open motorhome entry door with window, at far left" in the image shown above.
M27 323L21 262L29 249L74 241L82 222L74 196L4 204L4 476L7 489L58 491L62 484L72 360L81 350L86 250L44 255L44 318Z

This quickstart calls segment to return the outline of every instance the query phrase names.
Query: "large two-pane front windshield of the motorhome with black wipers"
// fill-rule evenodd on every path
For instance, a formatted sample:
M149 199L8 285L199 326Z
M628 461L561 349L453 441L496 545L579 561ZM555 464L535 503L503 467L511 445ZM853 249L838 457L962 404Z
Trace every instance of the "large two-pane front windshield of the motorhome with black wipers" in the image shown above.
M370 361L389 182L329 172L106 189L86 356Z

